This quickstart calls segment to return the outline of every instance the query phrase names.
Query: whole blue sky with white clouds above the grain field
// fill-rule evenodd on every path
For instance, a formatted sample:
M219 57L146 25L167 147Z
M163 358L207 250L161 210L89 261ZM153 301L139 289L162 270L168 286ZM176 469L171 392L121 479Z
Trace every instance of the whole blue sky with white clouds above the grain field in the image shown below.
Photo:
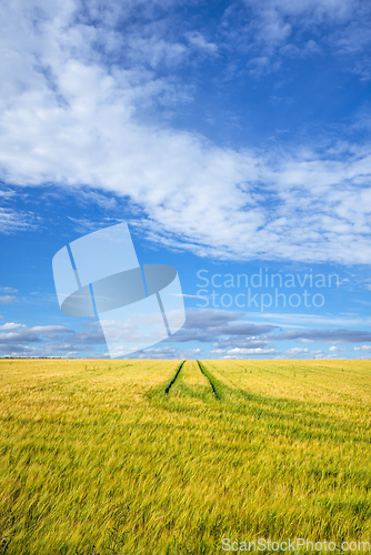
M131 356L370 359L370 2L14 0L0 26L0 356L109 356L51 261L127 222L187 312Z

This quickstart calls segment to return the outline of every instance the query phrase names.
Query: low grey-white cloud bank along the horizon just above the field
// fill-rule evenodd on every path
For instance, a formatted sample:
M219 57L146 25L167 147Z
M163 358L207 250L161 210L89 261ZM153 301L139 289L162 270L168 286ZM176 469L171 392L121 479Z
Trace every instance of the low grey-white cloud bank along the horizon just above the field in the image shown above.
M130 357L146 359L195 359L215 357L284 356L323 357L338 356L348 345L359 343L353 351L368 354L371 350L371 333L362 330L290 330L273 324L255 324L243 319L245 314L218 310L189 310L184 330L156 346L136 352ZM2 319L3 320L3 319ZM119 333L120 331L117 330ZM126 327L124 334L134 336L136 331ZM304 341L303 341L304 340ZM199 346L184 343L200 342ZM324 350L303 346L283 347L287 342L318 342L329 345ZM363 343L363 345L362 345ZM282 345L282 346L281 346ZM6 322L0 324L0 356L86 356L109 357L99 322L83 322L74 331L63 325L29 327L26 324Z

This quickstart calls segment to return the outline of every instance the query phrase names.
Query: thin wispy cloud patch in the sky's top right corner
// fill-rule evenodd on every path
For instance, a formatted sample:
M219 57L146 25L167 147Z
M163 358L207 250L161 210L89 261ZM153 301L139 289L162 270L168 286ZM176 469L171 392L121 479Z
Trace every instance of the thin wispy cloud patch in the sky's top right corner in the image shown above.
M224 36L250 54L252 73L277 71L284 58L308 58L323 49L359 56L353 71L367 79L371 9L360 0L242 0L224 13ZM363 69L363 71L362 71Z

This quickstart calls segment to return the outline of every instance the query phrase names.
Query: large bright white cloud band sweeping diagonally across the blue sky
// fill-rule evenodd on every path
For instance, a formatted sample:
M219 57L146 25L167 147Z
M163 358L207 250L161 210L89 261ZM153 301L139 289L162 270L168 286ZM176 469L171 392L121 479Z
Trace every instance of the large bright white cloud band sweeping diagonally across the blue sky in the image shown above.
M112 3L100 23L93 2L86 12L72 0L2 4L0 178L129 195L149 216L149 239L202 256L369 263L369 145L237 151L144 124L148 107L184 100L156 69L188 52L166 38L163 21L120 32L138 4ZM283 14L342 20L353 4L271 1L259 10L267 37L281 44L290 34ZM159 4L140 6L150 13ZM200 33L187 37L214 50ZM8 209L2 215L0 231L30 225Z

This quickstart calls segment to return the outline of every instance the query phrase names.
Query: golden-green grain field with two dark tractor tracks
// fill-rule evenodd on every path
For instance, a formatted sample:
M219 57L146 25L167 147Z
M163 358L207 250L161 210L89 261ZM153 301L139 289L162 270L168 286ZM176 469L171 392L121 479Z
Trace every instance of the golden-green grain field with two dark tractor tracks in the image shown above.
M369 361L181 362L0 360L7 555L371 541Z

